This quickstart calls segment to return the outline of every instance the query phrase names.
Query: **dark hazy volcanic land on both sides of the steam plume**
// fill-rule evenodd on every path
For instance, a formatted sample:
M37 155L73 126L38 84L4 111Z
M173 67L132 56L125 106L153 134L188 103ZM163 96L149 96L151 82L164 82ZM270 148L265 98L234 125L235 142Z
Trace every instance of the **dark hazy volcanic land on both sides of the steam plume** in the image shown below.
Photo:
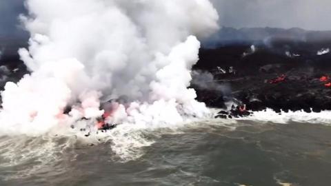
M27 41L0 40L3 90L6 81L28 73L17 54ZM208 106L225 108L233 102L232 116L266 107L276 112L331 110L331 52L317 55L322 48L331 49L331 32L223 28L208 42L200 50L192 81L197 99Z

